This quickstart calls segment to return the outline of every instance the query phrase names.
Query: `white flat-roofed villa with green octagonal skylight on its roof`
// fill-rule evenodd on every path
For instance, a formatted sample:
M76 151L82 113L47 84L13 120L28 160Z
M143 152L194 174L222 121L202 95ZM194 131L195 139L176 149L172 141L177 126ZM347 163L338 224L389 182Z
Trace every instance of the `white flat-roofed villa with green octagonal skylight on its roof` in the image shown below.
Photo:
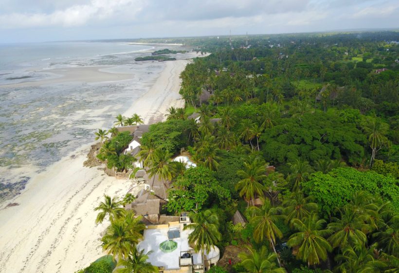
M194 251L188 244L190 229L183 230L190 224L187 213L181 213L179 220L166 224L148 225L144 239L138 244L139 250L152 251L147 262L159 267L163 273L204 273L216 265L220 257L218 247L213 247L204 256Z

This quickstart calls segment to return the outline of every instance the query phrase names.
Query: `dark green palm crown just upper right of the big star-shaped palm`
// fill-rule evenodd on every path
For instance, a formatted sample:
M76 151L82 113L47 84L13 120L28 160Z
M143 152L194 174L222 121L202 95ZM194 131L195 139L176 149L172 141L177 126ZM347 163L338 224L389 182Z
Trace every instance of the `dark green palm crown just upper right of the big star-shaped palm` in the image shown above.
M362 229L369 229L369 225L364 222L367 216L358 215L347 205L339 210L339 214L340 218L332 217L327 225L328 229L334 232L328 238L332 246L344 249L348 244L352 246L356 243L364 244L367 238Z

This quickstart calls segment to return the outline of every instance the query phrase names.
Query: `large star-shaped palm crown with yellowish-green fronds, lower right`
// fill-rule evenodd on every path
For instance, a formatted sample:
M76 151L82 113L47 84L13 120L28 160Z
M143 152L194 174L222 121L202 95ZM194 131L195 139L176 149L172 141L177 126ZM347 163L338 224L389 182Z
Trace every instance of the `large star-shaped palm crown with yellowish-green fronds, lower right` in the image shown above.
M287 244L290 247L299 247L297 259L308 262L308 265L320 264L321 260L327 259L327 252L332 251L332 247L324 238L331 234L331 231L321 230L325 223L326 221L319 220L315 213L303 221L292 220L292 224L298 232L290 236Z

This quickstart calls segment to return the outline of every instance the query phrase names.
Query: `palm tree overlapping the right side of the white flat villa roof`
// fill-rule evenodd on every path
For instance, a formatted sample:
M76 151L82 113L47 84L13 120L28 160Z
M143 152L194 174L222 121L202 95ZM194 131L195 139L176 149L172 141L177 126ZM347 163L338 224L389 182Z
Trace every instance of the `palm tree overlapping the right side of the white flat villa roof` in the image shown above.
M205 250L209 253L211 248L221 240L218 215L208 209L199 213L191 212L189 217L193 222L186 225L183 230L193 230L188 236L188 243L194 245L195 252L201 251L203 258Z

